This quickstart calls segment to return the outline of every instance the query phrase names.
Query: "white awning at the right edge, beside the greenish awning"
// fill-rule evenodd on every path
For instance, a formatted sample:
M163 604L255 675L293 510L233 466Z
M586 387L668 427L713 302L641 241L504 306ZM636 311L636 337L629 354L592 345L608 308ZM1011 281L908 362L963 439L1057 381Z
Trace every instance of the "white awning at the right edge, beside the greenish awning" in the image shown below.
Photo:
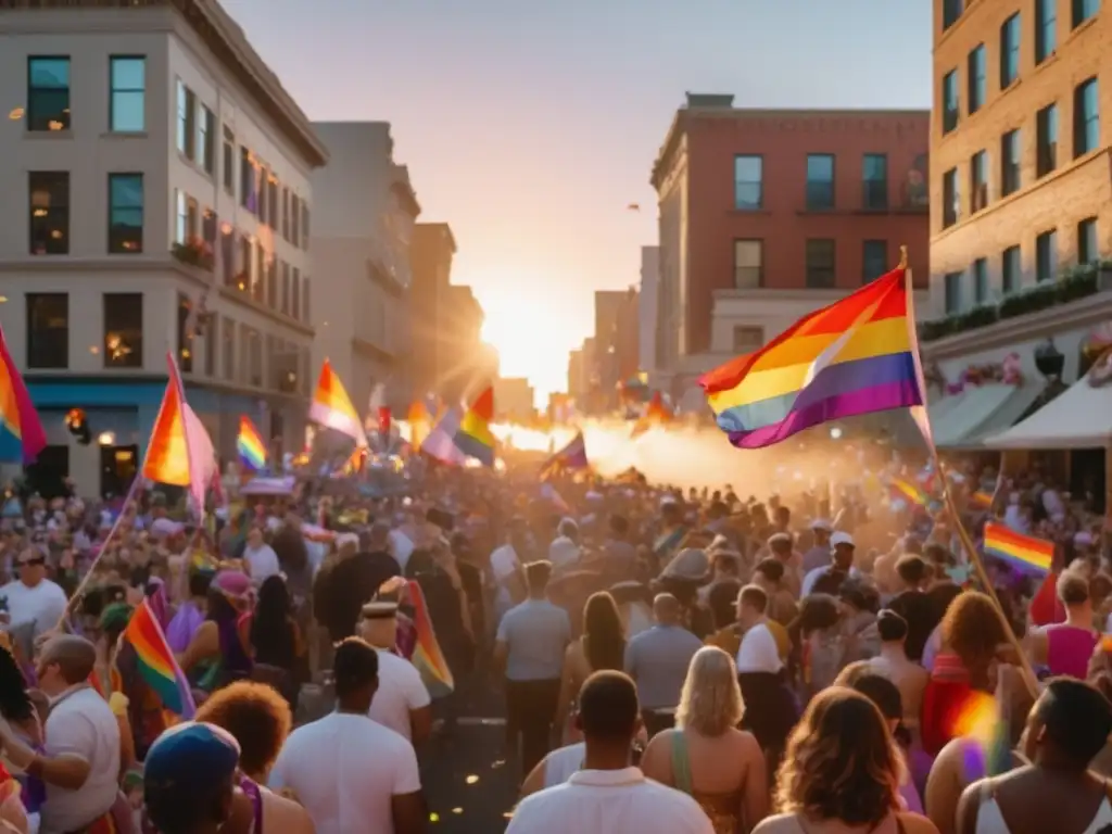
M1112 443L1112 386L1085 377L1023 423L982 444L990 449L1094 449Z

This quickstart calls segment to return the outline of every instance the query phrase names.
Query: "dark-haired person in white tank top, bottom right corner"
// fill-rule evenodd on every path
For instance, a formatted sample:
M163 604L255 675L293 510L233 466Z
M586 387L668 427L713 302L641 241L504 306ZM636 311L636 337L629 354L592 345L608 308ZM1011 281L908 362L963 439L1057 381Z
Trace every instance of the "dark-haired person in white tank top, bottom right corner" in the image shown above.
M1051 681L1027 717L1031 764L965 788L957 834L1112 834L1112 783L1088 770L1110 734L1112 703L1096 687Z

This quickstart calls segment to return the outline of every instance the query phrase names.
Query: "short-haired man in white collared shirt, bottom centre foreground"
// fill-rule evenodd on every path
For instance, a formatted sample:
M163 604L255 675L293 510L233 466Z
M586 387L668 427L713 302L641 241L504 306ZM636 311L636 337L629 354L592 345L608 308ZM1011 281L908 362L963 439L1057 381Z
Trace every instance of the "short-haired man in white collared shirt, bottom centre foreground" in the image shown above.
M578 703L580 770L522 800L506 834L714 834L695 800L629 766L641 706L627 675L596 672L583 684Z

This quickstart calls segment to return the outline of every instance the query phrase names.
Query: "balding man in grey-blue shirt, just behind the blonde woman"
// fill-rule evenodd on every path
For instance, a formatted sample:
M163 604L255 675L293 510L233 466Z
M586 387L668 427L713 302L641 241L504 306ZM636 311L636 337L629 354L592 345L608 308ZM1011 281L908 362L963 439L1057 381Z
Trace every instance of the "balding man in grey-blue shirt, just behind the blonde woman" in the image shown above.
M625 672L637 684L637 701L649 736L675 721L692 657L702 641L681 625L683 608L672 594L653 599L655 625L626 644Z

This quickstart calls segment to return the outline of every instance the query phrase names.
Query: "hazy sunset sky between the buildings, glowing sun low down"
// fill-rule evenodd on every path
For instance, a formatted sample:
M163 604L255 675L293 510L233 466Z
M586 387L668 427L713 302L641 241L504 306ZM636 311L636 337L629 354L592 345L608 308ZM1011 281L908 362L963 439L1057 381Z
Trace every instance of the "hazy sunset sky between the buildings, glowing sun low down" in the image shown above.
M684 92L929 107L925 0L221 0L317 120L386 120L503 374L566 385L594 290L639 280ZM626 210L638 203L639 212Z

